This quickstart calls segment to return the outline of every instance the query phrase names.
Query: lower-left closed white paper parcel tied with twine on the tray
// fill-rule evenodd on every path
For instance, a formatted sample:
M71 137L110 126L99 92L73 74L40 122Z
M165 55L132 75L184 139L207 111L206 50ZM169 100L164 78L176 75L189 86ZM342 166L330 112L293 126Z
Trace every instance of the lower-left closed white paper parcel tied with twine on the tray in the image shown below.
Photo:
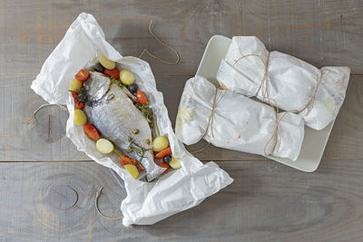
M182 92L175 133L188 145L204 138L226 149L297 160L304 121L196 76Z

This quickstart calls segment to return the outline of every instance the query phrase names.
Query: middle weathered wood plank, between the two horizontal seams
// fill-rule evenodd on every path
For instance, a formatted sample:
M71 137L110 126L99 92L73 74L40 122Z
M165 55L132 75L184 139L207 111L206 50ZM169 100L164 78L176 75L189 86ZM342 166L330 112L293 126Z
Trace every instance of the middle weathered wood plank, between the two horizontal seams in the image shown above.
M164 94L169 117L175 121L184 82L189 77L157 77L157 86ZM44 101L29 88L31 80L18 78L0 82L0 160L89 160L77 151L74 144L64 136L68 115L58 107L39 111L38 125L28 122L32 112ZM351 76L346 101L331 132L324 160L363 159L363 76ZM49 116L51 118L49 118ZM52 131L49 132L49 123ZM49 138L51 137L51 138ZM58 140L57 140L58 139ZM189 150L198 150L204 142ZM197 153L201 160L265 160L264 158L238 151L209 147Z

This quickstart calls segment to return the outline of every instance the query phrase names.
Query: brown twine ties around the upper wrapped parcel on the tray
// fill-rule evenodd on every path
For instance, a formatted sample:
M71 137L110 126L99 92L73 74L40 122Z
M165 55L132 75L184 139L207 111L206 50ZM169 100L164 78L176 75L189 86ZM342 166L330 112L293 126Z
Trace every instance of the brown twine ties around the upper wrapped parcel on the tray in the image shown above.
M255 96L257 96L259 94L259 92L261 92L263 100L269 102L269 100L271 100L270 96L269 96L269 78L268 78L270 52L268 53L266 61L264 61L262 56L260 56L259 54L250 53L250 54L242 55L242 56L240 56L240 58L238 60L234 61L233 66L236 63L240 62L241 59L244 59L244 58L250 57L250 56L258 57L260 59L260 61L263 63L263 65L264 65L263 77L262 77L262 80L260 82L260 86L259 86ZM320 73L320 75L317 73L315 89L314 89L314 92L312 93L311 98L309 99L309 102L301 110L299 110L299 111L298 110L291 110L289 112L294 112L294 113L299 114L302 111L308 110L307 114L309 114L309 111L311 111L311 109L314 107L316 94L318 92L318 88L319 88L321 79L322 79L322 73ZM278 103L276 101L275 101L275 103L276 103L276 105L278 105Z

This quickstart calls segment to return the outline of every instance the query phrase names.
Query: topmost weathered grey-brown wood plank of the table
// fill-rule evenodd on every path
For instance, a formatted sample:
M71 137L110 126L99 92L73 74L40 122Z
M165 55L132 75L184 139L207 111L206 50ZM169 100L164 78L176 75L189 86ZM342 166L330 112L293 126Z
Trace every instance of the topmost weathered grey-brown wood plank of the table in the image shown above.
M155 73L193 74L214 34L256 35L270 50L296 55L317 66L348 65L363 73L363 2L351 1L1 1L0 73L38 73L45 57L80 12L93 14L111 44L124 55L147 47L174 56L147 33L155 33L182 55L177 66L151 61ZM4 34L3 34L4 33ZM146 58L150 60L149 58Z

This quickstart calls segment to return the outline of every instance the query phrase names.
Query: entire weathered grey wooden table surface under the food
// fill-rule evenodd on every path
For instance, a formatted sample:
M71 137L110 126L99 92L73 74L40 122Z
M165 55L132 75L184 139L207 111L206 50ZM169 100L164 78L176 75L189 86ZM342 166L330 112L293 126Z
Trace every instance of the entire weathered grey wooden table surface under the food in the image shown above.
M304 173L210 147L197 157L217 161L235 181L200 206L153 226L100 217L95 191L104 187L100 208L113 217L121 215L124 191L64 136L67 113L49 107L37 124L28 121L44 103L30 84L82 12L95 16L123 55L147 47L172 60L147 33L156 22L154 32L181 54L175 66L144 58L173 123L184 82L214 34L255 35L270 50L318 67L351 67L319 169ZM362 34L361 0L0 0L0 241L362 241Z

